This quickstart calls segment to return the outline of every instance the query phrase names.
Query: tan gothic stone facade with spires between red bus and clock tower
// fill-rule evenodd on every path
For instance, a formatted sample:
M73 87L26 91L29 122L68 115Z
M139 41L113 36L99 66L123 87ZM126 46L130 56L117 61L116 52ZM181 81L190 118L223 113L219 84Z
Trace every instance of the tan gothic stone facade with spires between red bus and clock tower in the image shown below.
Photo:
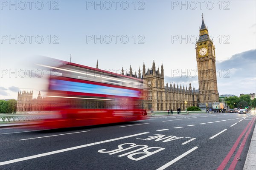
M136 73L132 74L130 66L130 74L126 74L127 76L137 77ZM122 74L123 69L122 69ZM152 68L145 70L145 64L143 63L143 75L141 76L140 68L139 68L139 79L143 79L144 81L144 91L146 93L146 99L144 103L144 108L154 111L167 111L169 110L177 110L180 108L181 110L185 110L186 107L198 106L199 102L199 93L195 90L195 88L191 87L191 83L189 83L189 88L186 89L183 85L183 88L175 84L172 86L166 83L164 85L164 73L163 73L163 63L161 65L161 72L159 68L156 70L155 62L153 62ZM187 102L185 104L185 101Z

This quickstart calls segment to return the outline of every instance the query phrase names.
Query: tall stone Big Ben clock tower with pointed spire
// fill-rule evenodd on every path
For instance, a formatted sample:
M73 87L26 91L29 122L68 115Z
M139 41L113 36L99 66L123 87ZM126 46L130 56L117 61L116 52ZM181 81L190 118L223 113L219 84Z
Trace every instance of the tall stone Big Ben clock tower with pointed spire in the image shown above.
M209 38L208 29L204 24L202 15L202 25L200 37L196 42L196 61L198 65L199 100L201 104L211 106L214 102L219 102L215 47ZM203 105L204 105L203 104Z

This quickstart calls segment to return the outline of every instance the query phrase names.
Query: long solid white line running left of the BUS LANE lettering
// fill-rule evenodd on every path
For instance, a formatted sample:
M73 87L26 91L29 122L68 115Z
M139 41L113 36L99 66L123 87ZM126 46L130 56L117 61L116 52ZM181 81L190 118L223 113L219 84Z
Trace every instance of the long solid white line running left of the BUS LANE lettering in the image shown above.
M3 161L3 162L0 162L0 166L5 165L5 164L12 164L12 163L19 162L19 161L34 159L34 158L38 158L38 157L42 157L42 156L48 156L48 155L52 155L52 154L55 154L55 153L66 152L66 151L69 151L69 150L80 149L80 148L83 148L83 147L93 146L93 145L96 145L96 144L102 144L102 143L106 143L106 142L113 142L113 141L116 141L116 140L121 140L121 139L130 138L130 137L134 137L134 136L144 135L144 134L147 134L147 133L149 133L149 132L137 133L137 134L134 134L134 135L123 136L123 137L119 137L119 138L115 138L115 139L109 139L109 140L94 142L94 143L90 143L90 144L83 144L83 145L76 146L76 147L69 147L69 148L66 148L66 149L55 150L55 151L52 151L52 152L41 153L41 154L38 154L38 155L27 156L27 157L23 157L23 158L19 158L19 159L13 159L13 160L10 160L10 161Z

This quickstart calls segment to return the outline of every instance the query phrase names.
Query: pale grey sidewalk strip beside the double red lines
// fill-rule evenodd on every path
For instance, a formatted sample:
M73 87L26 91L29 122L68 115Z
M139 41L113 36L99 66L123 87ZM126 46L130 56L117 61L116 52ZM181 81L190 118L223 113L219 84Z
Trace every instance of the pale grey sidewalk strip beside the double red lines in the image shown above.
M256 126L253 130L252 140L244 163L244 170L256 170Z

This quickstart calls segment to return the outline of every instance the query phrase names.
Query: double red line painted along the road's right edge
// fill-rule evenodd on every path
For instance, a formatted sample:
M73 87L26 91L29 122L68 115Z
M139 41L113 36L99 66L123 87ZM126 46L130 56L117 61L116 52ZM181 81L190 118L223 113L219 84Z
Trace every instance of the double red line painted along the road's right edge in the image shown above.
M254 118L248 123L248 125L245 127L245 129L244 129L243 132L240 134L240 136L239 136L238 139L236 140L235 144L234 144L233 147L231 148L230 152L227 154L227 156L226 156L226 157L224 158L224 160L221 162L221 164L220 164L220 166L218 167L217 170L224 170L224 168L226 167L228 161L230 160L230 158L232 157L233 153L235 152L235 150L236 150L236 148L237 148L237 146L238 146L238 144L239 144L241 138L244 136L244 133L246 132L246 130L247 130L248 127L250 126L249 130L247 131L247 133L246 133L245 136L244 136L244 139L243 139L243 141L242 141L242 143L241 143L241 145L240 145L240 147L239 147L239 150L238 150L237 153L236 153L235 158L233 159L233 161L232 161L232 163L231 163L231 165L230 165L230 167L229 167L229 170L234 170L234 169L235 169L236 164L237 164L236 158L241 155L241 152L242 152L242 150L244 149L244 144L245 144L245 142L246 142L246 140L247 140L247 137L248 137L248 135L249 135L249 133L250 133L252 127L253 127L253 122L254 122L255 119L256 119L256 118L254 117Z

